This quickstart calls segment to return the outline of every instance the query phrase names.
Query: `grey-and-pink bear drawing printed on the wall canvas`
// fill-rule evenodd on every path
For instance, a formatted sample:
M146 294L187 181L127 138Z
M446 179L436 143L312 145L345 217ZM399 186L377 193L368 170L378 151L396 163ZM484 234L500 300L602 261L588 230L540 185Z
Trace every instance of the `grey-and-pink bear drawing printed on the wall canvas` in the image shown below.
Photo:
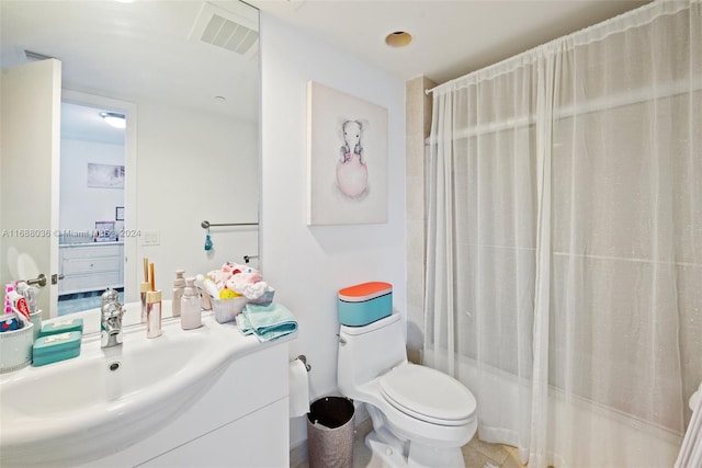
M337 186L348 197L358 198L366 192L369 184L369 169L361 145L363 125L359 121L346 121L341 130L344 144L337 162Z

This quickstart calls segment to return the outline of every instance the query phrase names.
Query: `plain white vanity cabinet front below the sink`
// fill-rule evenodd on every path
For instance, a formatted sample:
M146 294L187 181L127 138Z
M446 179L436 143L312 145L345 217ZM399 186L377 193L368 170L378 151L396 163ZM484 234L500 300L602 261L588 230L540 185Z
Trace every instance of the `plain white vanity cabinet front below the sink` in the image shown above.
M80 468L287 467L287 368L286 339L257 344L160 430Z

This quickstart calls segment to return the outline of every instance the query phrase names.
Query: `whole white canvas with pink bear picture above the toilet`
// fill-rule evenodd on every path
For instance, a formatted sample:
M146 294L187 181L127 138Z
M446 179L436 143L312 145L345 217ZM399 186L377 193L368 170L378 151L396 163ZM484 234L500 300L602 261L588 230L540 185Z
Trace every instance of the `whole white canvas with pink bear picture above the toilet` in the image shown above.
M387 222L387 110L307 83L307 224Z

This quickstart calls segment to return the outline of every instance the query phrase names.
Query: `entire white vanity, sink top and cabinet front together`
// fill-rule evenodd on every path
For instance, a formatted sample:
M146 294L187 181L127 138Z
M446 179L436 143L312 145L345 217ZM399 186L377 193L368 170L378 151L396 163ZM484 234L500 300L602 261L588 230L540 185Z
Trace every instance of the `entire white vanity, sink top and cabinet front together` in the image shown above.
M285 465L286 343L296 332L261 343L205 312L197 329L165 320L162 334L148 339L140 304L125 307L125 319L138 324L123 328L122 345L102 347L100 333L83 334L78 356L0 379L3 466L139 466L157 456L166 458L155 466L173 466L183 454L190 454L183 465L196 466L202 453L214 456L217 447L214 464L252 466L261 465L262 453L273 453L271 434L284 449L264 455L262 465ZM89 313L99 321L97 309ZM23 399L31 403L16 403ZM178 425L163 432L171 424ZM201 437L231 426L236 431L202 445ZM229 441L237 440L259 448L235 449L233 459ZM190 443L195 445L181 448ZM166 455L172 449L180 452Z

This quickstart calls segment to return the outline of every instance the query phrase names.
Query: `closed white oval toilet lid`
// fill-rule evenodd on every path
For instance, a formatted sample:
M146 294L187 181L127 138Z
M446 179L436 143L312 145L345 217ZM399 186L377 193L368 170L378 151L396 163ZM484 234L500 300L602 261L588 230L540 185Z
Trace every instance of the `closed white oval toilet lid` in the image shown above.
M462 425L475 414L471 390L431 367L403 364L382 376L380 387L392 406L422 421Z

